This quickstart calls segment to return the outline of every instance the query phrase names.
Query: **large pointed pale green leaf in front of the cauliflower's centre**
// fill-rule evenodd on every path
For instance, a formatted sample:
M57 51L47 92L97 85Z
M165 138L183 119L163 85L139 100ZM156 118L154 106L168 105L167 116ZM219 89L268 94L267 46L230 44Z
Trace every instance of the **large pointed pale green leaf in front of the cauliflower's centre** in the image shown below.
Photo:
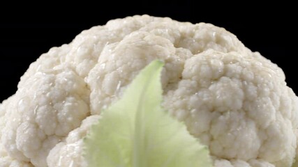
M89 167L209 167L207 147L161 107L161 70L153 61L101 113L84 140Z

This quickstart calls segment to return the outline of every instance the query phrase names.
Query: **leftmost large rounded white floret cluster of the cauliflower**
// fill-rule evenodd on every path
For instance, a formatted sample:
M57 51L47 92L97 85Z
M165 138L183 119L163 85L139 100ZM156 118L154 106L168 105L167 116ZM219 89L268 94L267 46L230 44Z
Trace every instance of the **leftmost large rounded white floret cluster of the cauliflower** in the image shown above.
M46 166L54 145L89 115L89 90L62 64L33 73L21 84L6 104L1 143L14 159Z

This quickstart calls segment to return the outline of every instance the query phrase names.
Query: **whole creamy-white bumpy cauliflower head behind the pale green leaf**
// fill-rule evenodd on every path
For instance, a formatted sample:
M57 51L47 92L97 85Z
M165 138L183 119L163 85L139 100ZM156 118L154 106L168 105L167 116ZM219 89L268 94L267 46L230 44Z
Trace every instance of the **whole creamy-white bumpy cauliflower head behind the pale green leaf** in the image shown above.
M89 127L155 59L163 106L214 166L292 166L298 98L281 68L225 29L149 15L94 26L30 65L0 104L0 166L87 166Z

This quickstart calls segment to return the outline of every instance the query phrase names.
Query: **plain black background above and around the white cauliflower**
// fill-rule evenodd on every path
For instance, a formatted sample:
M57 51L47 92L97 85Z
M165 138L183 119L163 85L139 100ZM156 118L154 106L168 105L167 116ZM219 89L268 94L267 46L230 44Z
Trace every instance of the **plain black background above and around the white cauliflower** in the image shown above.
M108 5L80 2L75 7L45 3L32 10L22 5L20 8L1 6L7 7L7 11L0 13L0 102L15 93L29 64L51 47L69 43L84 29L103 25L110 19L142 14L224 27L237 35L246 47L260 51L283 68L288 86L298 93L295 6L285 2L266 6L245 2L225 6L215 3L139 1L128 4L130 8L117 1Z

